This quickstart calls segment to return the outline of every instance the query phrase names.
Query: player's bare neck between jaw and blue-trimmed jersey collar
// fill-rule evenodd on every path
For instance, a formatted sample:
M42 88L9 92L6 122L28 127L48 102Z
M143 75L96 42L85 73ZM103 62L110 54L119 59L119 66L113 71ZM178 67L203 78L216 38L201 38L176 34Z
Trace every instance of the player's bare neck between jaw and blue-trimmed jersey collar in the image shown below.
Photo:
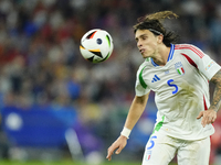
M155 57L152 57L154 62L159 66L165 66L167 64L169 52L170 47L167 47L166 45L160 46L156 52Z

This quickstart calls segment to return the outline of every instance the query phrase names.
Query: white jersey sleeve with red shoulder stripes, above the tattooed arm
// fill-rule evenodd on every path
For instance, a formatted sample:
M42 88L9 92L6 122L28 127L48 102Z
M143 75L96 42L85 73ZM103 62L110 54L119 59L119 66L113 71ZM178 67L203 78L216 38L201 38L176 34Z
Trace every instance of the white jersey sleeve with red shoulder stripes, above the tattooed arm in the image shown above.
M198 69L210 80L220 69L220 65L193 45L189 45L192 53L190 58L196 63Z

